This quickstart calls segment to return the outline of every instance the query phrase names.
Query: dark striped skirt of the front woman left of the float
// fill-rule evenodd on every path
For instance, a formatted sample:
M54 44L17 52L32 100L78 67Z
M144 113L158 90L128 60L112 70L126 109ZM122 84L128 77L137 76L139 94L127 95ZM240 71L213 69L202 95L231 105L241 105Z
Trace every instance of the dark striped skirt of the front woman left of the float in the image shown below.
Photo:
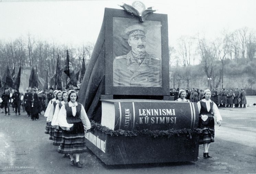
M62 130L62 140L58 152L63 154L86 151L83 123L74 123L70 131Z

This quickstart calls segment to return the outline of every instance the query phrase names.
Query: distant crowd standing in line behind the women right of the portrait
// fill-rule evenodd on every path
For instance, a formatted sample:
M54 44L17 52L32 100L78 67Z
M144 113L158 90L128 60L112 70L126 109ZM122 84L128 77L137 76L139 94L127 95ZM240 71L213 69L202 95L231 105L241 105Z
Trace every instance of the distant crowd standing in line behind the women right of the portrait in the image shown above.
M197 88L183 89L186 92L185 99L190 102L198 102L203 98L203 90ZM235 107L246 108L246 92L245 89L210 89L211 100L217 107ZM177 100L179 97L179 89L170 89L170 95Z

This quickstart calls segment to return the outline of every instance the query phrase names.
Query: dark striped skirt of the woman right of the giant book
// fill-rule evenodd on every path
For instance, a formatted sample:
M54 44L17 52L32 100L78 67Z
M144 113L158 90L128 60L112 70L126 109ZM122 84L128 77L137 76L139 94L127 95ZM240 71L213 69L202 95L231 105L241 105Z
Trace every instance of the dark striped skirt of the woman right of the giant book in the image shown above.
M199 145L214 142L213 117L208 117L206 121L203 121L201 117L199 117L199 128L202 129L202 133L199 136Z

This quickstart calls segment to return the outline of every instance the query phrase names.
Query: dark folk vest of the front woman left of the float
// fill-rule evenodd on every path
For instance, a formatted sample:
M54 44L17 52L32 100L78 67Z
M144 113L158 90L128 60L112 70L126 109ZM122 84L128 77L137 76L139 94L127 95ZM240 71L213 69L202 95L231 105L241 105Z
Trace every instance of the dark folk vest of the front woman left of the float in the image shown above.
M67 111L67 122L68 124L71 123L78 123L81 122L80 119L80 114L81 114L81 109L82 109L82 104L77 103L78 105L76 106L77 112L75 113L75 116L72 114L72 107L69 107L68 103L65 103L65 109Z

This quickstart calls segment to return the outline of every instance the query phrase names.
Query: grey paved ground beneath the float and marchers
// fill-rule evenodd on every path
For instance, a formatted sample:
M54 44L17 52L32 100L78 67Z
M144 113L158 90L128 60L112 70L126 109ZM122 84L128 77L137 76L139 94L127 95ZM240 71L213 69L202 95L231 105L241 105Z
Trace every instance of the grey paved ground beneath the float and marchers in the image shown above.
M256 96L247 96L256 103ZM0 172L3 173L256 173L256 108L220 109L222 126L215 127L216 139L210 145L212 159L203 159L199 146L196 162L104 165L90 151L83 153L82 169L69 165L67 158L57 153L56 146L44 134L46 119L40 116L30 121L20 116L0 114ZM29 169L22 169L29 167Z

